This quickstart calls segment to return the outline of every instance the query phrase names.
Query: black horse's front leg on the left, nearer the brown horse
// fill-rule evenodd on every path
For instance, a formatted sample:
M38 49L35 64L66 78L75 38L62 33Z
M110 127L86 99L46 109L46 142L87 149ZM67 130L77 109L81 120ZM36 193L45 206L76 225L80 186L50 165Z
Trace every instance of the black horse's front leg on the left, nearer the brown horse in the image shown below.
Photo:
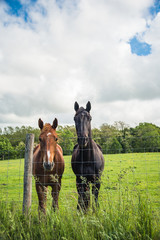
M86 210L90 203L90 188L89 183L86 180L82 180L80 177L76 179L76 186L78 191L78 205L77 209Z

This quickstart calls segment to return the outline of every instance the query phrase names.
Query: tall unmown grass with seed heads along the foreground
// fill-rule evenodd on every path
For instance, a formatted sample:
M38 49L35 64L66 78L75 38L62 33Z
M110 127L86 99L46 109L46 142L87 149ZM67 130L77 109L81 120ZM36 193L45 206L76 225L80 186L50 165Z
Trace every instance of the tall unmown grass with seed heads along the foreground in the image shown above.
M0 203L0 239L39 240L158 240L158 225L155 225L150 203L137 193L138 202L108 202L94 212L86 214L66 207L54 212L47 209L46 215L31 211L25 216L13 203Z

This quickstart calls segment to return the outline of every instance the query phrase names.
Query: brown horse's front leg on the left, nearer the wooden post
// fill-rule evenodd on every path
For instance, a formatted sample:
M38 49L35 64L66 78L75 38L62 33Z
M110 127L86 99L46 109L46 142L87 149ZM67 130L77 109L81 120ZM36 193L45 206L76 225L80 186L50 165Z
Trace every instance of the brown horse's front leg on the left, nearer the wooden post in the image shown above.
M42 211L45 213L45 208L46 208L46 200L47 200L47 187L44 187L40 183L36 183L36 191L38 195L38 200L39 200L39 207L38 210Z

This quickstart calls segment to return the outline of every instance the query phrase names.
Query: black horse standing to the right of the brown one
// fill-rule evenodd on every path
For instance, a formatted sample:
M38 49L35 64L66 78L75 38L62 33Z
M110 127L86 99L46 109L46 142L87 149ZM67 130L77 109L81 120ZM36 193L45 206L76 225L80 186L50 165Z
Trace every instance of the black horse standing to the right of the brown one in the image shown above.
M76 111L74 121L78 136L78 144L75 145L72 154L72 169L76 175L78 191L77 208L86 210L90 203L90 184L95 203L98 205L101 173L104 169L104 158L99 145L91 138L91 104L87 103L86 109L74 104Z

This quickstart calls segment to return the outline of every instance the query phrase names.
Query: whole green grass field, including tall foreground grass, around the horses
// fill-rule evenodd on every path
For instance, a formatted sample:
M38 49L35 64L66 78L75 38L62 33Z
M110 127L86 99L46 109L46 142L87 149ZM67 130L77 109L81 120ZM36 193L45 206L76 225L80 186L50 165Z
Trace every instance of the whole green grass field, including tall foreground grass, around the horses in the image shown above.
M34 179L32 217L27 220L21 213L23 159L1 161L0 223L3 223L3 227L0 227L0 239L160 239L160 153L114 154L104 157L99 209L95 213L89 209L85 215L77 212L77 191L70 164L71 156L65 156L60 209L58 213L52 212L51 196L48 193L45 222L38 219ZM9 227L10 221L12 224L19 223L15 226L19 230ZM39 225L41 229L36 228Z

